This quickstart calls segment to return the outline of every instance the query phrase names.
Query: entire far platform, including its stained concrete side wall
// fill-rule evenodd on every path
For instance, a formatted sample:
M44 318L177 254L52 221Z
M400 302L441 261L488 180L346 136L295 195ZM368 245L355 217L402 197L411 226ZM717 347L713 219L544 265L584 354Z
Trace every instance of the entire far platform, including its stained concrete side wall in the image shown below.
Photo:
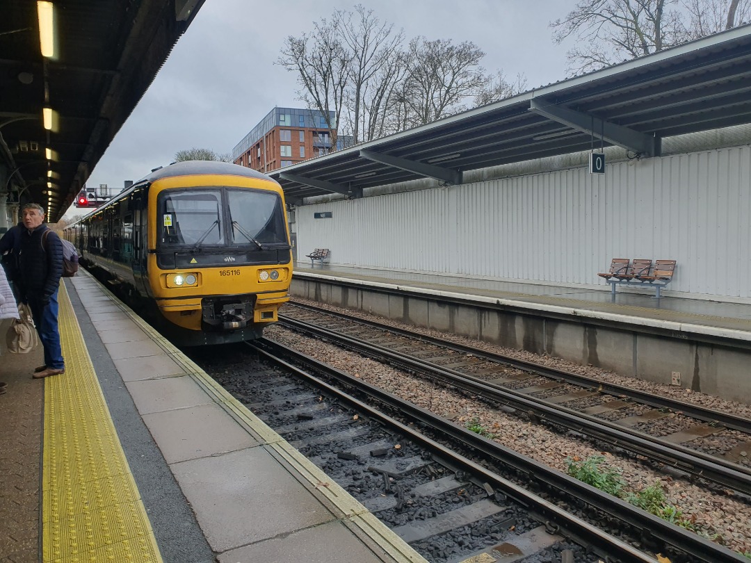
M629 289L300 262L290 293L751 405L751 305Z

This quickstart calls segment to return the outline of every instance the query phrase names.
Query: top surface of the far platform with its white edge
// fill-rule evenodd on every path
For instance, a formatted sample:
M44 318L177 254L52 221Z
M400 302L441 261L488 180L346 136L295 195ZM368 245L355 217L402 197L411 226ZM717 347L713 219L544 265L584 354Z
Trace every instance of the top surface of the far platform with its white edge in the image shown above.
M297 263L298 278L330 278L377 287L409 288L436 295L454 295L480 303L499 303L538 312L578 315L582 318L611 319L644 327L704 333L751 343L751 304L721 300L696 300L670 297L656 299L654 289L617 290L611 288L566 288L557 285L468 278L439 273L404 272L360 266L324 263L311 267Z

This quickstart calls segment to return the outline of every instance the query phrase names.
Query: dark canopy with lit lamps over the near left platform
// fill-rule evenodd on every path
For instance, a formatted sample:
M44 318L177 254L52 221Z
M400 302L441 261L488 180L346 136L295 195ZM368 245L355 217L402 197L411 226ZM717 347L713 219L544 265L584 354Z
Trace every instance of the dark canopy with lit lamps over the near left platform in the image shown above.
M0 197L42 203L56 221L203 3L4 0ZM43 56L50 5L52 53Z

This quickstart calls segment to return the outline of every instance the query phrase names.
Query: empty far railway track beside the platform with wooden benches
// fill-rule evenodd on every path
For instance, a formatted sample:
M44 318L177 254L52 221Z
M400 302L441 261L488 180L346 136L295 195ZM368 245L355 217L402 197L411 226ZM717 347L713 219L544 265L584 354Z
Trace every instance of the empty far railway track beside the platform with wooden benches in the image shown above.
M751 451L749 420L310 306L286 308L280 321L302 333L484 397L494 405L515 409L538 423L587 435L599 446L610 444L671 471L751 495L751 466L739 462L746 461L741 454ZM629 411L620 418L612 416L626 407ZM629 414L634 410L642 414ZM691 417L694 423L667 436L647 433L650 421L671 413ZM701 432L710 435L725 428L742 437L723 456L687 445Z

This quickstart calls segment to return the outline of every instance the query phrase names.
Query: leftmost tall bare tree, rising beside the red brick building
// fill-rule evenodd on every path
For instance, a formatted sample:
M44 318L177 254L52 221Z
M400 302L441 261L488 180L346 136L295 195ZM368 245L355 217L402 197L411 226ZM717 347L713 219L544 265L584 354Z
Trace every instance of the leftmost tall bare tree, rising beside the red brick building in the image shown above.
M342 116L350 56L338 38L336 23L321 20L315 33L294 38L282 47L277 64L297 73L297 92L309 109L320 111L326 120L332 150L336 150L336 126ZM333 111L334 118L330 118Z

